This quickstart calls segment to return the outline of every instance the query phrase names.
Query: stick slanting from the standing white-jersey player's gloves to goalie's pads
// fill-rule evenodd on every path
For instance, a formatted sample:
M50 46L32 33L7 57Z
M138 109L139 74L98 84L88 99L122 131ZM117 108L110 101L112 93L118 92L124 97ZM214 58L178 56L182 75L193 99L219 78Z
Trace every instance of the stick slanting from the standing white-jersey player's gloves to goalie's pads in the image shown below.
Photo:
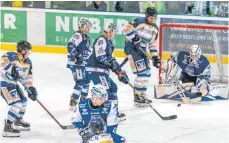
M148 55L141 47L138 47L141 52L146 55L148 58L150 58L150 60L152 60L152 62L154 62L153 58ZM201 92L197 92L197 93L190 93L188 91L186 91L186 89L173 77L171 76L164 68L162 68L161 66L158 67L159 69L161 69L163 72L165 72L172 80L173 80L173 84L176 86L178 92L179 92L179 95L182 99L182 101L184 103L197 103L197 102L200 102L202 100L202 93ZM182 92L182 89L183 89L183 92ZM186 97L186 95L184 94L184 92L188 95L195 95L195 96L199 96L197 98L194 98L194 99L189 99Z

